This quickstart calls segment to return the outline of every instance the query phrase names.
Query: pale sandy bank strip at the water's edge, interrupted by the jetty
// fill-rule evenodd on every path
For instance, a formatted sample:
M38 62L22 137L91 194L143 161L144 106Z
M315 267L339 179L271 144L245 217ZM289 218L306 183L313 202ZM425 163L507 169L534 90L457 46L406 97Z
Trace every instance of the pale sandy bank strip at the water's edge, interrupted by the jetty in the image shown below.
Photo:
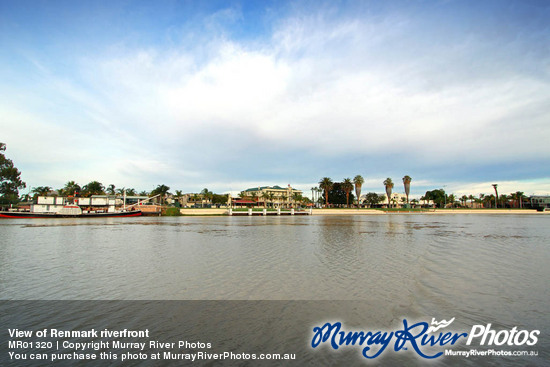
M221 216L226 215L227 209L180 209L182 216ZM401 211L384 211L380 209L313 209L312 215L448 215L448 214L531 214L544 215L550 214L550 211L539 212L536 209L429 209L426 211L419 210L401 210Z

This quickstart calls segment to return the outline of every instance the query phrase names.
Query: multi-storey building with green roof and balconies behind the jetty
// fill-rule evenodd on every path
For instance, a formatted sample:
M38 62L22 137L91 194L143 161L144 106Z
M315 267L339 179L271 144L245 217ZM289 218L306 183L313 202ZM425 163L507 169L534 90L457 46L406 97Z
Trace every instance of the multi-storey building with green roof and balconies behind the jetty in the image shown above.
M247 205L270 206L274 208L293 207L299 203L303 192L292 188L281 186L260 186L241 191L240 199L234 199L234 205L240 205L246 202ZM252 203L252 204L251 204Z

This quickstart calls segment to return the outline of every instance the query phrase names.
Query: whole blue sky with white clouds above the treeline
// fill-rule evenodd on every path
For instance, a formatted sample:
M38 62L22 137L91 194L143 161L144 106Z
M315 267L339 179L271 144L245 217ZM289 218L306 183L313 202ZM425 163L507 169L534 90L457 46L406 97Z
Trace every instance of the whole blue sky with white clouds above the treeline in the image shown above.
M0 0L27 182L550 194L548 1Z

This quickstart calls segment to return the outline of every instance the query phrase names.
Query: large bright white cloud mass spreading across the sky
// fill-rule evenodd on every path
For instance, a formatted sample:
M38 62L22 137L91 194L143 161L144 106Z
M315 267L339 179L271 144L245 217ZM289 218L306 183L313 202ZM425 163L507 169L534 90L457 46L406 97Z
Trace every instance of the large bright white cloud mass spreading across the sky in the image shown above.
M515 60L478 75L476 65L494 60L478 38L430 48L418 41L414 55L414 19L341 18L330 9L276 23L265 42L227 38L224 27L241 17L235 9L213 15L207 28L222 36L191 48L109 48L73 75L33 60L41 82L26 100L51 100L0 107L9 148L42 151L43 164L115 167L95 173L110 172L105 181L135 172L127 177L144 185L171 176L208 182L205 166L216 158L201 155L227 161L228 152L243 164L274 151L319 160L388 153L430 165L550 158L550 85L516 72ZM242 149L250 142L262 142L259 151Z

